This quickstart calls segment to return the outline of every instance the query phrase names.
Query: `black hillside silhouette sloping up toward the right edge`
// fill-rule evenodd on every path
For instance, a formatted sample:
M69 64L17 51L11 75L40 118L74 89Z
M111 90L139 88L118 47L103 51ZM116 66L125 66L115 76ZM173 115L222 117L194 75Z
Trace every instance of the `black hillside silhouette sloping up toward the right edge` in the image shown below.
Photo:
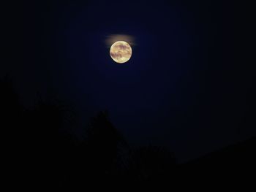
M255 183L256 138L214 151L178 167L180 180L211 185ZM195 172L197 174L195 174Z

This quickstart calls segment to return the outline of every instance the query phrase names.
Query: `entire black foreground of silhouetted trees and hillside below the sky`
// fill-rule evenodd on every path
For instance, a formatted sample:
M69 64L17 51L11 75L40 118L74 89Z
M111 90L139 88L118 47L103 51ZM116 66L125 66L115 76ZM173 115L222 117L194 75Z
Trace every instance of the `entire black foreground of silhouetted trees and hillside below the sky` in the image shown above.
M84 139L70 134L72 112L56 101L39 100L24 109L10 82L1 81L2 163L15 185L83 191L89 187L134 185L184 188L192 185L243 186L255 183L256 139L177 164L165 147L130 147L99 112L85 128Z

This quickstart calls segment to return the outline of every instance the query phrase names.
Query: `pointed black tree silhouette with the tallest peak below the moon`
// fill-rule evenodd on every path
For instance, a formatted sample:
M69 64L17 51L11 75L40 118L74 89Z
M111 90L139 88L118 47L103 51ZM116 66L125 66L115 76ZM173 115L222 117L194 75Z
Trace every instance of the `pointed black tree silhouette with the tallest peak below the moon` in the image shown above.
M107 112L99 112L91 118L86 131L85 141L78 147L76 170L79 170L80 183L104 182L110 183L117 178L121 169L121 150L127 147L124 137L110 122Z

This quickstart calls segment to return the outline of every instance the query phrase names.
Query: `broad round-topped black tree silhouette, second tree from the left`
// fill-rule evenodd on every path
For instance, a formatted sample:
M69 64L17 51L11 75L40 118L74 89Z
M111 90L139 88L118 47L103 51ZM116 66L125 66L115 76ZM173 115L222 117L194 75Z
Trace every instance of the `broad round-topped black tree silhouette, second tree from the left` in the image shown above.
M70 121L67 106L57 100L39 99L33 109L24 110L26 164L31 168L34 185L57 186L66 180L74 138L64 130ZM66 172L67 171L67 172Z

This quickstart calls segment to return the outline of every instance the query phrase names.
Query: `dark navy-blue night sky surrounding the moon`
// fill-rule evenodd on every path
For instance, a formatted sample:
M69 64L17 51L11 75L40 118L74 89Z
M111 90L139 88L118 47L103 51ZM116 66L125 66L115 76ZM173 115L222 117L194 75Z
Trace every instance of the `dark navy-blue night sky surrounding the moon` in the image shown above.
M255 135L252 18L233 1L36 1L6 4L0 75L31 107L67 101L77 137L108 110L132 145L166 145L178 161ZM10 9L9 9L10 8ZM134 38L116 64L106 39ZM120 39L122 40L122 39ZM254 53L255 55L255 53Z

